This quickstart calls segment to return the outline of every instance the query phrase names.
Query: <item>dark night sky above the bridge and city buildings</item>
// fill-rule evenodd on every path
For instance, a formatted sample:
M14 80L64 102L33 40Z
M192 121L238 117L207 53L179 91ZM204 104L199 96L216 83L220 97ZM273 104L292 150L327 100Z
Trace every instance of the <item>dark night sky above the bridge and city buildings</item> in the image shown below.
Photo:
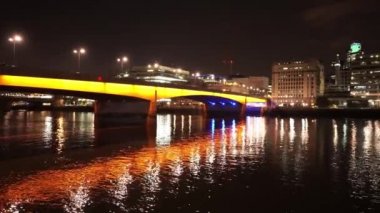
M70 72L72 50L83 46L82 71L117 70L157 61L188 70L271 74L275 61L318 58L327 68L351 42L380 52L380 1L117 1L8 0L1 2L0 63L10 63L8 37L18 32L21 67ZM248 3L249 2L249 3Z

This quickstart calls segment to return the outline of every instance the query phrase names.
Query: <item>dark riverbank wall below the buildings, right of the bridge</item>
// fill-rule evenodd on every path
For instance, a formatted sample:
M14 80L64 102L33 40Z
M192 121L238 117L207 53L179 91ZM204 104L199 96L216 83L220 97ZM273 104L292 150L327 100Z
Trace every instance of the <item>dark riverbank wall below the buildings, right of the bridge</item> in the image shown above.
M269 117L347 117L380 118L380 109L374 108L273 108L263 111Z

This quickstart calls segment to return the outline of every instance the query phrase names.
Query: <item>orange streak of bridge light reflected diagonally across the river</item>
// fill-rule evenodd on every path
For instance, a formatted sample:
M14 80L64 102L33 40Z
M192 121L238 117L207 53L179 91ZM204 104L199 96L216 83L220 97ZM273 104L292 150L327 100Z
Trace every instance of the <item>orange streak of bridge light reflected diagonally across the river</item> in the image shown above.
M174 144L168 144L167 140L164 140L166 146L144 148L132 153L126 152L71 168L37 172L8 185L0 192L0 209L17 203L67 200L65 208L80 210L83 205L90 202L91 189L104 183L108 183L106 184L107 191L113 195L117 204L121 205L121 202L117 200L125 199L128 195L127 185L135 177L143 179L143 193L145 191L152 195L160 190L160 171L163 169L168 168L165 171L169 171L173 183L178 181L185 168L188 168L195 178L199 176L200 164L203 162L207 162L206 169L212 175L212 170L215 170L216 166L222 169L226 164L226 156L237 157L239 153L245 153L244 150L247 148L244 146L250 146L250 143L243 143L243 139L249 138L250 141L258 140L256 137L263 139L266 131L265 120L253 119L253 122L250 120L249 123L254 124L255 131L263 132L255 132L248 136L246 134L251 133L252 130L247 131L247 129L252 129L252 127L246 127L244 123L235 123L235 121L232 127L226 127L223 121L222 129L214 130L214 127L211 127L214 133L206 138L194 137L191 142ZM212 124L215 125L215 121ZM169 134L172 133L169 131ZM164 135L162 137L165 138ZM256 146L255 148L262 149ZM252 154L259 153L257 150L247 150L250 150L247 154L251 157ZM147 198L154 200L154 196Z

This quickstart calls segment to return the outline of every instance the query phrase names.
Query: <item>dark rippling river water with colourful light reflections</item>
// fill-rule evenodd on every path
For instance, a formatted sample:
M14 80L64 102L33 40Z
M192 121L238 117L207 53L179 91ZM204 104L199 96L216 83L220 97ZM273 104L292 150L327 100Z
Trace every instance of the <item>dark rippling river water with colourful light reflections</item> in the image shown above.
M379 212L380 121L11 112L0 212L17 211Z

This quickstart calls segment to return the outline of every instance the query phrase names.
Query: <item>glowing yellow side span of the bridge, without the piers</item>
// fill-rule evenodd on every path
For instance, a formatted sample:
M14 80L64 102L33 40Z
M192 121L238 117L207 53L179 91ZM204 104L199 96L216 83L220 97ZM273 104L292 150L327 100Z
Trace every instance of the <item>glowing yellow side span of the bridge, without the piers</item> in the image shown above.
M58 78L0 75L0 87L25 87L46 90L76 91L85 93L134 97L148 101L186 96L209 96L226 98L241 104L265 103L262 98L222 92L180 89L139 84L107 83L99 81L69 80Z

